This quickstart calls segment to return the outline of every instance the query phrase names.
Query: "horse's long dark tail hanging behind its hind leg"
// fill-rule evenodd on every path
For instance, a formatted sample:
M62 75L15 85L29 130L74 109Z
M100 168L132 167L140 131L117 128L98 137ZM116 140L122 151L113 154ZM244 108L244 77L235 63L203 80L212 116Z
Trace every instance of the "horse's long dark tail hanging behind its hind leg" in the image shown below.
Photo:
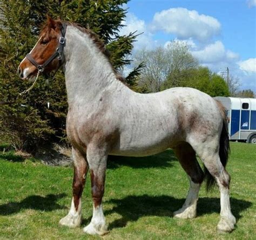
M220 134L220 147L219 147L220 161L223 164L224 168L227 164L229 153L230 153L230 138L228 136L227 121L225 116L223 120L223 128ZM205 172L205 181L206 181L206 191L210 191L215 186L216 182L206 167L204 167L204 172Z

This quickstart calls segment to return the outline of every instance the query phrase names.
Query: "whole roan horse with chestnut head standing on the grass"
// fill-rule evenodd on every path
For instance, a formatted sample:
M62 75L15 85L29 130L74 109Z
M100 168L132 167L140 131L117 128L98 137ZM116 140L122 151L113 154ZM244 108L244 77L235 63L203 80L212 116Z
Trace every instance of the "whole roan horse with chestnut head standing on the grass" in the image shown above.
M71 207L59 224L80 226L82 193L90 169L93 214L83 231L106 234L102 199L107 156L148 156L172 148L190 182L185 203L173 216L196 217L199 189L206 179L208 188L217 183L220 190L217 230L234 229L230 175L225 169L229 138L224 107L218 101L188 87L136 93L122 82L95 33L48 17L38 42L19 64L18 74L24 80L35 79L38 73L59 67L65 74L69 105L66 133L74 167Z

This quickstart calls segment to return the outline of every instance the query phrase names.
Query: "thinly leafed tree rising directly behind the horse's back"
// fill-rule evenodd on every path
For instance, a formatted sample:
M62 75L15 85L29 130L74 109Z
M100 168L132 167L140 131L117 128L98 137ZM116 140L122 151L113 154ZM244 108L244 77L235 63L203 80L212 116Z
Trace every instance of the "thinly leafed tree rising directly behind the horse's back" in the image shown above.
M144 85L149 92L185 85L187 70L198 66L198 61L188 51L188 46L179 41L154 50L138 51L134 63L141 62L146 66L142 70L139 84Z

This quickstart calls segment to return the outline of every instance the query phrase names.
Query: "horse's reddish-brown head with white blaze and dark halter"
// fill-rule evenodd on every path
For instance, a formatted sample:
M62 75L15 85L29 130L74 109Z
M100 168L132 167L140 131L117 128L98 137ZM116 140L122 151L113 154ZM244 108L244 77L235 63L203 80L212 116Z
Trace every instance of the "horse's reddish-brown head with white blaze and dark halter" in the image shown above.
M64 29L64 30L63 30ZM47 19L33 49L18 67L19 77L35 79L38 71L50 72L62 64L65 27L60 20Z

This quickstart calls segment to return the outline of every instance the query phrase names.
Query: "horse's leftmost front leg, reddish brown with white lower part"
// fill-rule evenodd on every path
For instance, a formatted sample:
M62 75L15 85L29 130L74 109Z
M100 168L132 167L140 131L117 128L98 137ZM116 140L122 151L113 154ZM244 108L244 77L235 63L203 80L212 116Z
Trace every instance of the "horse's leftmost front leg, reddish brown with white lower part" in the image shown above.
M79 227L82 222L82 193L85 185L88 163L86 156L72 148L74 176L73 176L73 197L69 214L63 217L59 223L71 228Z

